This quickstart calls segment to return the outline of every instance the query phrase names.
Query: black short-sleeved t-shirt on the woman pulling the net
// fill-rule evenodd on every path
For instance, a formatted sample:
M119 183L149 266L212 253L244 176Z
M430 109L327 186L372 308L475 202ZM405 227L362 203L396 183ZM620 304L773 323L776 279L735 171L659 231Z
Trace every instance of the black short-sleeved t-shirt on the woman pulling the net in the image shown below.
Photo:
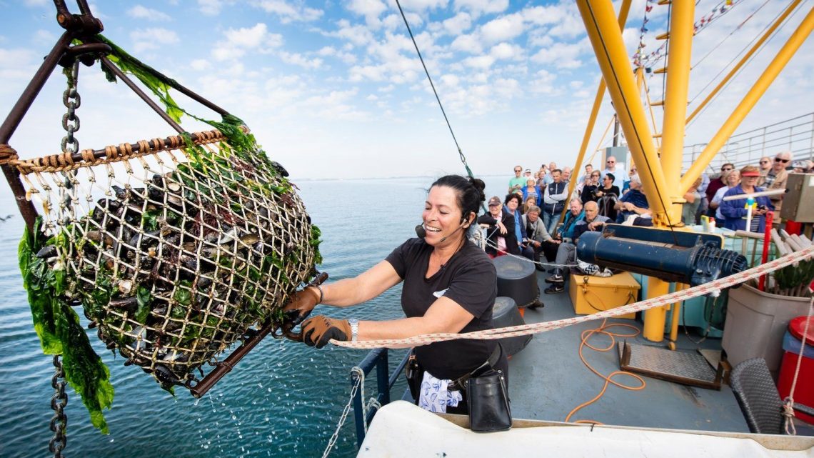
M405 315L423 316L436 299L445 296L475 316L461 332L492 329L497 272L486 253L466 240L435 275L426 278L432 250L424 240L410 239L386 258L404 280L401 308ZM417 346L415 355L433 376L457 379L483 364L496 345L493 340L460 339Z

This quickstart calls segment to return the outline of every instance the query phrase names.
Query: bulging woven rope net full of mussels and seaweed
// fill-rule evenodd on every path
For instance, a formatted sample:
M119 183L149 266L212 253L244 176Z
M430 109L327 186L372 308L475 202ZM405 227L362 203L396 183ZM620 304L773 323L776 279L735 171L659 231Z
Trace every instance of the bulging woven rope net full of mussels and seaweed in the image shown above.
M107 347L164 388L279 323L315 274L318 229L256 147L238 152L212 130L76 159L11 161L50 237L37 257L64 271L64 294Z

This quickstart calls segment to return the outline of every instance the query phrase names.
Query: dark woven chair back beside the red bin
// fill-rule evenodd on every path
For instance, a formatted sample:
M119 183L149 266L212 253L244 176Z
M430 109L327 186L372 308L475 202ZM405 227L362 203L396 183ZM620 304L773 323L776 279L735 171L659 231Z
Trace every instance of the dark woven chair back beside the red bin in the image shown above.
M746 359L737 364L729 381L752 433L786 433L783 428L783 401L780 394L777 394L777 386L774 385L765 359ZM794 410L814 415L814 409L803 404L795 403Z

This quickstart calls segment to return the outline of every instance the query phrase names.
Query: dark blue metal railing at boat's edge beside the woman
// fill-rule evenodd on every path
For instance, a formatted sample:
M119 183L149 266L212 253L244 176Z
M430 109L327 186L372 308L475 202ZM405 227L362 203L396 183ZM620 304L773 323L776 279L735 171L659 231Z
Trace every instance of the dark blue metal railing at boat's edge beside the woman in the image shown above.
M379 403L379 406L390 403L390 390L393 385L396 384L401 372L404 371L408 358L409 352L407 352L405 358L401 360L401 363L399 363L392 374L390 373L390 367L387 361L386 348L370 350L370 353L365 356L365 359L362 359L361 363L359 363L359 368L361 368L362 372L365 372L365 377L373 368L376 368L376 388L378 391L376 402ZM355 386L359 383L358 377L357 372L351 372L351 386ZM367 427L376 414L376 409L370 409L370 412L365 412L363 392L364 390L357 390L356 394L353 395L353 420L356 422L357 447L361 447L362 441L365 440Z

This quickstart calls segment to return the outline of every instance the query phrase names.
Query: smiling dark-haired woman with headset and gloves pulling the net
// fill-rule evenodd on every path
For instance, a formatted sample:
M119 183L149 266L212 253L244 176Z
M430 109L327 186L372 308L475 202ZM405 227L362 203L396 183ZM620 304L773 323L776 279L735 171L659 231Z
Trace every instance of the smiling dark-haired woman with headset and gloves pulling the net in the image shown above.
M466 237L483 200L484 182L479 179L447 175L432 183L422 214L426 236L407 240L355 278L304 288L284 308L287 315L301 319L317 303L355 306L404 281L401 307L407 317L360 321L315 316L302 324L304 342L320 348L331 338L400 339L493 328L497 273L486 253ZM484 364L503 371L508 382L508 363L495 341L436 342L415 347L414 355L425 371L419 405L428 410L466 413L459 379Z

